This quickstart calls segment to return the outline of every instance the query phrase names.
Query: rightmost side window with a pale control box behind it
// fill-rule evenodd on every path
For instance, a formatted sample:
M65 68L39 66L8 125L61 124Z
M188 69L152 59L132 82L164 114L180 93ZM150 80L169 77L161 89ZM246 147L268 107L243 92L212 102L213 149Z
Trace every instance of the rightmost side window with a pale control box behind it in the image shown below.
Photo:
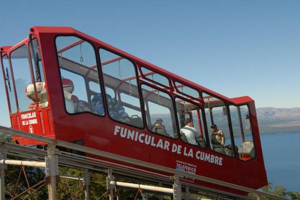
M238 146L237 158L250 160L255 157L249 110L246 105L229 106L234 144Z

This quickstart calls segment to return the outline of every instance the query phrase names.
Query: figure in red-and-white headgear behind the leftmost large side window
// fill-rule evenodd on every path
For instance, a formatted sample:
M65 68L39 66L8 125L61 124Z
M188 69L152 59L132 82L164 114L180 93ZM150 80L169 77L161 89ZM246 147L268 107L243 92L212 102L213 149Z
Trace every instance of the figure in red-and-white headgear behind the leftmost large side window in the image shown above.
M68 113L90 111L87 102L79 100L77 96L72 94L74 92L73 82L67 78L62 78L61 82L62 82L66 111Z

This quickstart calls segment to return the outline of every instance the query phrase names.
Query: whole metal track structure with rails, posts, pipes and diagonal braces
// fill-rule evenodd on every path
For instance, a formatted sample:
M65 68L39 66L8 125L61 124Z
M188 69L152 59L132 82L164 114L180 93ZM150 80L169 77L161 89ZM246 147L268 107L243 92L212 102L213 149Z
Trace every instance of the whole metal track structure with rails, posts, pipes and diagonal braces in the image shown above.
M107 190L99 198L95 198L96 200L101 200L103 197L107 197L107 195L109 197L109 200L113 200L114 198L116 198L116 200L120 200L118 194L119 194L119 190L122 188L130 188L130 189L137 190L135 199L137 199L137 197L140 195L142 196L142 199L145 200L147 198L143 195L143 192L157 194L159 200L162 200L163 195L169 196L170 199L172 200L181 200L181 198L183 198L183 194L185 200L196 200L197 198L195 198L195 196L191 196L191 193L197 194L199 191L202 191L204 193L209 193L209 194L215 194L214 197L218 197L218 198L214 198L214 199L251 200L250 198L244 196L238 196L231 193L226 193L214 189L196 186L193 184L188 184L185 182L180 182L179 180L180 176L190 177L207 183L212 183L215 185L219 185L219 186L223 186L223 187L227 187L227 188L231 188L231 189L235 189L247 193L253 193L258 196L273 198L275 200L287 200L286 198L263 193L260 191L237 186L234 184L213 180L198 175L187 174L184 172L176 171L174 169L153 165L151 163L125 158L107 152L102 152L91 148L82 147L76 144L49 139L39 135L28 134L22 131L17 131L2 126L0 126L0 132L44 142L47 144L47 151L44 151L44 150L34 149L34 148L21 146L17 144L0 142L0 187L1 187L0 200L4 200L4 178L5 178L6 165L22 166L21 171L23 173L25 172L24 171L25 166L39 167L45 169L44 170L45 179L34 186L30 186L28 184L27 178L25 178L28 188L23 189L24 191L22 192L22 194L18 194L17 196L13 197L14 199L17 199L21 195L26 194L30 200L33 200L32 193L34 193L34 191L37 190L35 188L40 188L45 184L48 187L49 200L57 200L57 198L60 197L59 192L61 192L62 188L68 188L68 191L70 193L69 200L75 200L76 196L79 193L83 193L83 191L84 191L84 200L89 200L89 185L90 185L89 173L99 173L99 174L107 175L106 177ZM90 157L59 151L57 149L59 147L76 150L87 154L92 154L98 157L105 157L105 158L121 161L128 165L127 166L119 165L113 162L107 162L99 159L94 159ZM6 155L23 159L23 160L22 161L7 160ZM141 169L129 167L130 165L139 166ZM83 170L84 176L82 178L59 176L58 166ZM173 176L169 177L159 173L153 173L150 171L143 170L144 168L168 173ZM26 175L24 176L26 177ZM143 183L146 183L146 185L118 182L115 181L115 177L125 178L128 181L130 180L142 181ZM79 181L78 190L74 194L72 194L71 190L69 189L68 181L67 181L69 179ZM60 184L60 188L57 183ZM57 191L56 191L56 187L57 187L56 185L58 186ZM35 190L32 191L33 189ZM182 193L183 189L185 193Z

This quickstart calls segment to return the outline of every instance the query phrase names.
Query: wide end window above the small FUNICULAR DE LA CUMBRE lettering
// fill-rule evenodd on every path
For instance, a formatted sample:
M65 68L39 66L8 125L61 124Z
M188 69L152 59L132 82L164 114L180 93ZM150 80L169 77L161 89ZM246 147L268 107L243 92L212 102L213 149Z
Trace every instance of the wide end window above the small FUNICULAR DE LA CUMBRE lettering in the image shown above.
M37 100L31 80L27 46L22 45L12 51L10 61L19 111L35 110Z

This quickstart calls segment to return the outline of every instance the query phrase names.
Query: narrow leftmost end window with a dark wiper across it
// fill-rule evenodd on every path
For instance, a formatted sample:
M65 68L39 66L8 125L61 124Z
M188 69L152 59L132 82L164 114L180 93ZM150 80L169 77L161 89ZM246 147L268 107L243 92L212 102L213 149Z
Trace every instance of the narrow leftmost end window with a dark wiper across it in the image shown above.
M5 86L8 93L8 101L10 107L10 113L16 113L16 103L14 97L14 87L12 83L11 71L9 67L9 61L7 55L2 57L2 67L4 72Z

